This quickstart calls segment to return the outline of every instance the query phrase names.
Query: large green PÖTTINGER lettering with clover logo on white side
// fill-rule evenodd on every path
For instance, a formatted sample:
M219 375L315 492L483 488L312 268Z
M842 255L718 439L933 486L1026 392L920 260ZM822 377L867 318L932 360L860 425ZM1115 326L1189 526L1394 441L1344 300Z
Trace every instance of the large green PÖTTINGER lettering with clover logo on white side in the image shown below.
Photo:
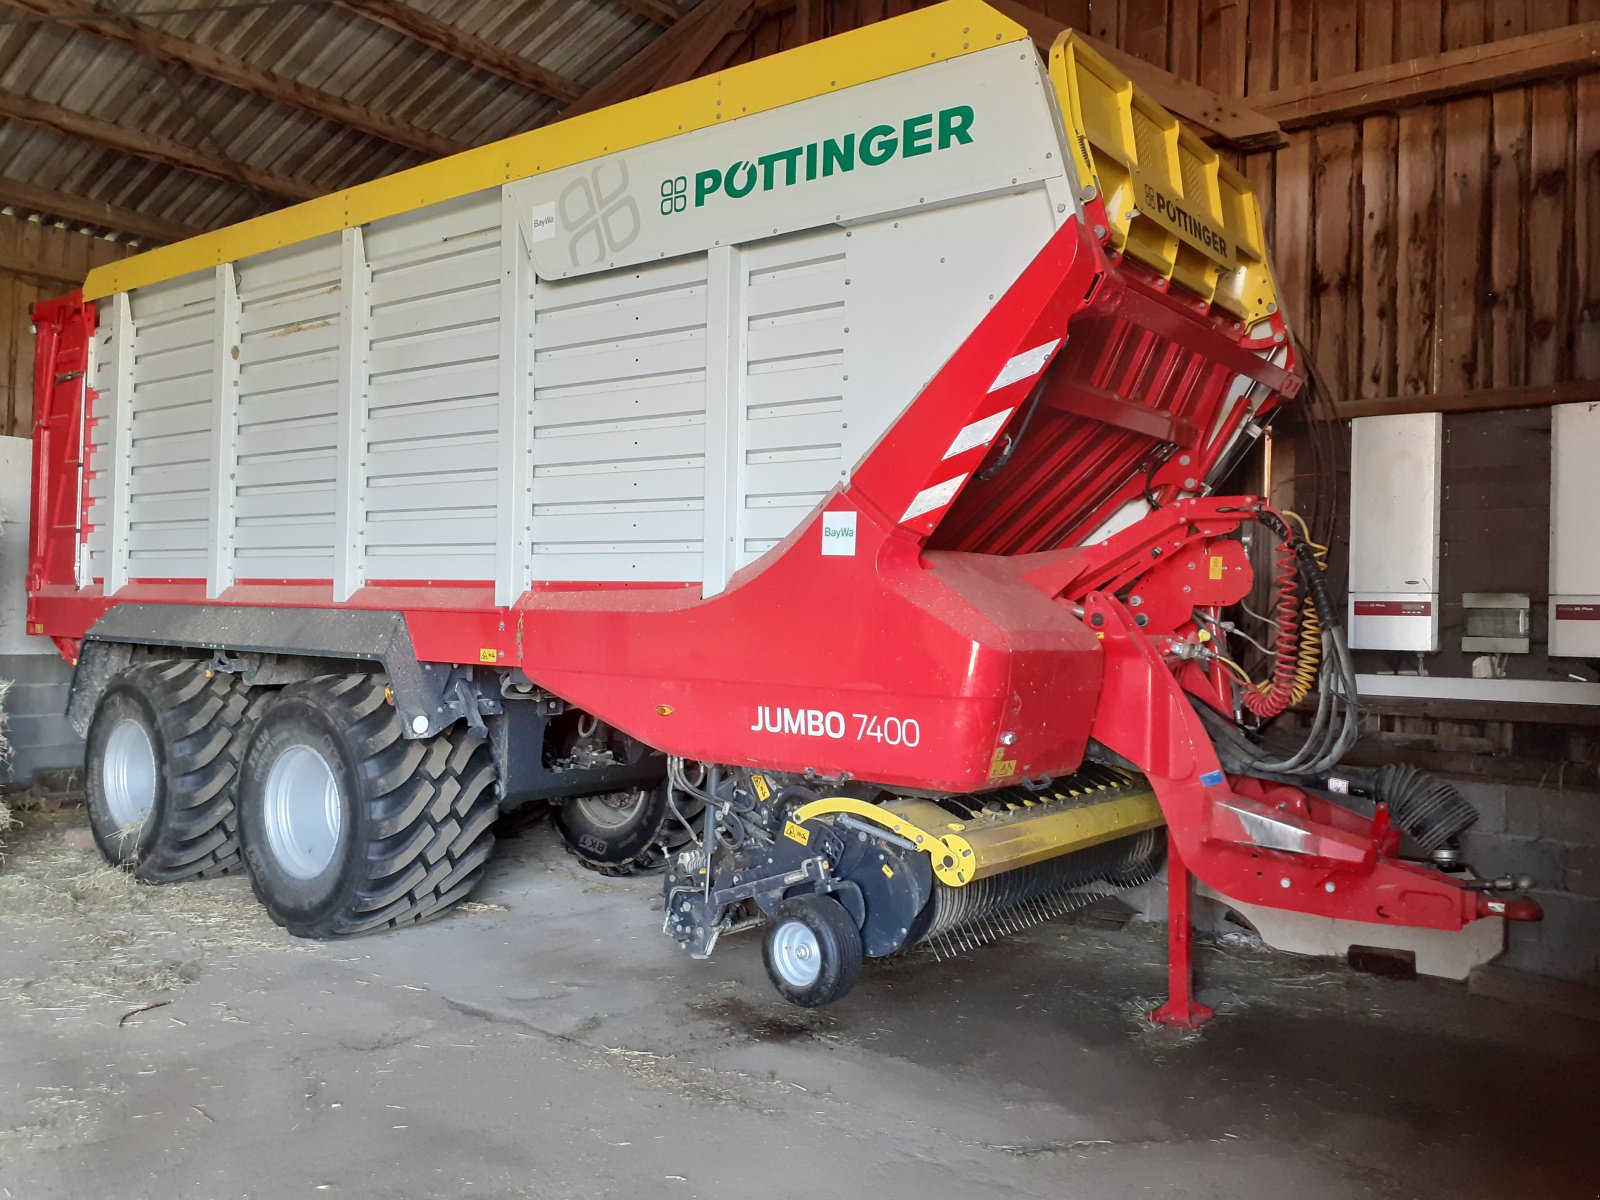
M850 174L856 166L883 166L896 158L917 158L973 142L973 109L955 104L939 112L906 117L899 125L874 125L862 133L790 146L782 150L741 158L726 168L707 166L694 173L661 181L661 214L674 216L690 208L702 208L718 195L742 200L754 192L794 187L835 174Z

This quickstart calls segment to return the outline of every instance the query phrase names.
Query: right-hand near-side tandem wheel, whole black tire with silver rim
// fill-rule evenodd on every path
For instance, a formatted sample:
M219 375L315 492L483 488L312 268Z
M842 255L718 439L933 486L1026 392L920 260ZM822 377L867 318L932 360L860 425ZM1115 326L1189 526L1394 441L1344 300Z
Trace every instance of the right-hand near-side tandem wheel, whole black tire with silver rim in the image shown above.
M325 861L285 834L285 797L306 789L288 787L283 766L310 763L306 750L322 762L320 811L336 814ZM269 803L269 792L280 798ZM406 741L384 677L323 675L283 688L262 715L238 810L250 878L272 920L298 938L347 938L464 901L494 850L499 798L488 742L464 725Z

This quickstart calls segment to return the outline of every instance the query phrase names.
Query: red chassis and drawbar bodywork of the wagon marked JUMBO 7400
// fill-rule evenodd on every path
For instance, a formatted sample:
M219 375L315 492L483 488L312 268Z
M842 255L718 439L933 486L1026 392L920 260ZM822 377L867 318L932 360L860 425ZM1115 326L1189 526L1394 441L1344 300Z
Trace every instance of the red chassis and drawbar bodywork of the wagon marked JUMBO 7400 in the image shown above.
M75 661L117 603L336 606L326 581L238 582L218 597L202 581L136 579L115 597L99 581L78 587L94 309L69 296L38 306L35 323L32 632ZM1150 776L1174 885L1187 888L1187 867L1242 901L1459 928L1488 912L1480 894L1394 861L1382 813L1365 822L1298 789L1226 779L1190 707L1186 691L1226 696L1221 670L1182 648L1197 645L1197 605L1248 587L1230 534L1259 501L1171 499L1070 546L1141 493L1194 491L1245 419L1245 403L1224 416L1240 376L1296 392L1293 371L1259 354L1286 339L1278 317L1270 328L1248 341L1069 221L850 483L723 594L536 584L502 608L488 584L413 582L363 587L346 606L402 613L424 661L522 667L685 758L971 792L1070 773L1096 738ZM1182 453L1138 470L1160 443ZM824 515L851 512L856 552L824 555ZM1186 555L1221 563L1205 598L1184 586L1194 573L1170 570ZM1134 586L1138 616L1117 598Z

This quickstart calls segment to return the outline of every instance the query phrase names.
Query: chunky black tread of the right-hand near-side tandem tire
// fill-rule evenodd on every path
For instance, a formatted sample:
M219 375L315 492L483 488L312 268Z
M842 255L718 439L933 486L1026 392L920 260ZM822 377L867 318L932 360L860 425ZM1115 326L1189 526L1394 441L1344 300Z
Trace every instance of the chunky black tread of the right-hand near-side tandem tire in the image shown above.
M381 675L320 675L280 693L344 723L373 821L352 902L312 925L290 923L298 936L347 938L443 915L477 886L494 850L499 798L488 744L462 723L406 741L386 690Z

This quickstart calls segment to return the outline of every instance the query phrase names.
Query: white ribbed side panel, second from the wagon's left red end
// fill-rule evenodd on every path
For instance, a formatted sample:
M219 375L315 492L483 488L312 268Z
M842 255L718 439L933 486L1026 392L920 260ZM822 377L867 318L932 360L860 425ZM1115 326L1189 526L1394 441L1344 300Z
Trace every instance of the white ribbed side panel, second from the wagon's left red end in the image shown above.
M130 296L136 336L128 576L205 576L216 296L211 272Z

